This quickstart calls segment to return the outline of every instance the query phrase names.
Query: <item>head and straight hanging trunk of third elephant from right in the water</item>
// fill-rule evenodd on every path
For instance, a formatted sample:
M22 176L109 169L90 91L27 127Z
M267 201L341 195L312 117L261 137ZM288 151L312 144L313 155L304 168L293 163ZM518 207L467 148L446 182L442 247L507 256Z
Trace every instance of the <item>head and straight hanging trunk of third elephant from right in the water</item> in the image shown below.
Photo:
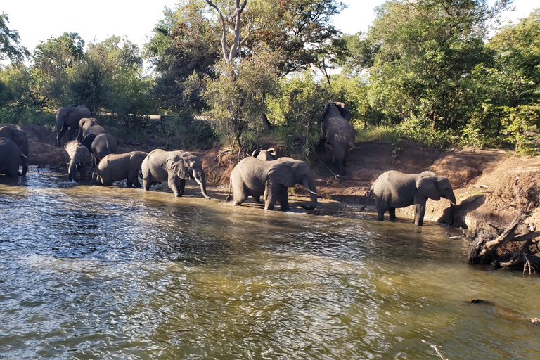
M200 191L203 196L210 199L206 193L205 172L203 172L203 163L191 153L184 151L175 151L167 158L167 172L174 173L180 179L192 179L200 185Z

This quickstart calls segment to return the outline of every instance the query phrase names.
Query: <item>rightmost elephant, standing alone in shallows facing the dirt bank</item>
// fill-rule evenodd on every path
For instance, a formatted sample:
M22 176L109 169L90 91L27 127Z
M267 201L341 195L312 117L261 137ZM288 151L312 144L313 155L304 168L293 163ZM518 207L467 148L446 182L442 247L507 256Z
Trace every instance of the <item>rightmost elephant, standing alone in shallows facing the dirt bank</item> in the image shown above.
M379 221L384 219L385 212L390 214L390 219L396 219L396 207L414 205L414 224L422 226L428 198L435 201L446 198L452 205L456 205L456 196L449 179L432 172L420 174L404 174L394 170L385 172L371 186L366 204L372 193L375 194ZM360 211L365 208L366 205Z

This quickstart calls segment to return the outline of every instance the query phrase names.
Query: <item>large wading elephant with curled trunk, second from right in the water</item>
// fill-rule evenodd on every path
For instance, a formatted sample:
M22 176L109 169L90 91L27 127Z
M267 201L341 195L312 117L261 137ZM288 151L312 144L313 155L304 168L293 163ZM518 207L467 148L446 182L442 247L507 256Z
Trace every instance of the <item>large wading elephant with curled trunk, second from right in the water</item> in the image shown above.
M311 194L311 204L301 205L306 210L314 210L317 206L317 189L307 164L292 158L278 160L260 160L245 158L240 160L229 181L229 194L226 200L231 200L231 187L234 191L233 206L243 203L248 196L257 198L263 195L264 210L274 210L276 200L282 211L289 210L288 188L302 184Z

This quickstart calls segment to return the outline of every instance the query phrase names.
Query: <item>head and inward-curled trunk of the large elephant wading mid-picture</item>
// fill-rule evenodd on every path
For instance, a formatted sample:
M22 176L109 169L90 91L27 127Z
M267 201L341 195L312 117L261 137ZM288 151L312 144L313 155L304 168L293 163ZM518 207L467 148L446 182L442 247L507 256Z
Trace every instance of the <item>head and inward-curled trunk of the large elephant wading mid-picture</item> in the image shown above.
M317 189L307 164L292 158L279 158L275 162L268 172L269 181L287 188L293 188L295 184L302 184L311 194L311 204L300 206L306 210L314 210L317 206Z

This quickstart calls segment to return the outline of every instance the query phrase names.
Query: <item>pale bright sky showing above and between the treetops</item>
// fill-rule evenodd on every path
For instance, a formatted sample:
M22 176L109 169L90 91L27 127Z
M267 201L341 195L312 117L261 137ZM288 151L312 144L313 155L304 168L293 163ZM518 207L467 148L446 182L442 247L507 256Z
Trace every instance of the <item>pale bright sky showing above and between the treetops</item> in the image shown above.
M384 2L342 1L349 7L333 23L347 34L368 30L375 19L375 7ZM164 18L164 7L174 8L177 0L3 0L2 3L0 12L8 14L8 27L18 30L21 44L33 51L39 41L59 37L64 32L78 32L86 42L103 41L113 35L127 37L142 49L155 24ZM516 11L506 18L515 21L529 15L540 4L538 0L514 0L513 6Z

